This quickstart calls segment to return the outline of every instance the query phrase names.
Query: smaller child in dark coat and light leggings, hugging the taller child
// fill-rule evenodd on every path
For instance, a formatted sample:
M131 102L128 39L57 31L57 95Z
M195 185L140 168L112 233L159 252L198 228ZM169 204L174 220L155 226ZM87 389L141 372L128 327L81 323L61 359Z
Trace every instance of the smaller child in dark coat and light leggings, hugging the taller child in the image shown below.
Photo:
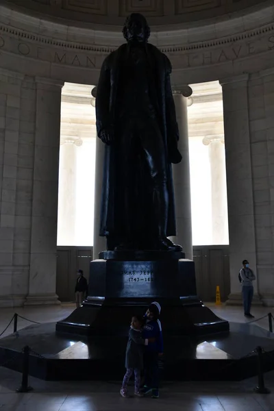
M125 354L125 368L127 372L123 379L122 388L120 394L122 397L127 398L127 384L130 377L134 373L135 376L135 395L142 397L140 393L140 373L143 369L143 355L144 346L149 342L153 343L154 338L142 338L142 326L144 325L144 319L142 316L134 315L132 317L132 323L129 329L129 340L127 343L127 351Z

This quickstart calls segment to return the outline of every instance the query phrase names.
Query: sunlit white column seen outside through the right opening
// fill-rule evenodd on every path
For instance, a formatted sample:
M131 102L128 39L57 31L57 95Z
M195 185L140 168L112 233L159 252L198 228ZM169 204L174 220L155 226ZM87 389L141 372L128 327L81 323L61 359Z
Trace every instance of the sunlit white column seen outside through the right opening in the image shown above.
M224 136L206 136L211 171L212 244L221 245L227 238L227 188L225 182Z

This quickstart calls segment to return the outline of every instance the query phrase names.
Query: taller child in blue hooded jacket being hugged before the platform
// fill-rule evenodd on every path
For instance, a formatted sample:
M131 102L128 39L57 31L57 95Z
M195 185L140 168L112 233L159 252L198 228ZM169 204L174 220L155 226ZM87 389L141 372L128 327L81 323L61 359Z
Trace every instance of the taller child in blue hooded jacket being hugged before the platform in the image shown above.
M145 314L145 325L142 329L142 338L155 338L154 343L145 347L144 369L145 386L143 394L152 392L152 398L159 398L159 356L163 353L162 325L159 320L161 306L157 301L149 305Z

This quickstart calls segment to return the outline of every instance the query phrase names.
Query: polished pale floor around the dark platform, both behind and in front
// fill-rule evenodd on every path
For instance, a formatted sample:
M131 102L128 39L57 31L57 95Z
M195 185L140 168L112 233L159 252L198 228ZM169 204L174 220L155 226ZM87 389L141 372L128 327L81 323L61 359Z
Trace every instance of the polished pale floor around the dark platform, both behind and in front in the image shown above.
M230 321L247 321L240 307L208 306ZM0 334L14 312L32 321L47 323L64 318L73 308L71 304L2 308ZM268 312L273 312L272 308L253 308L256 318ZM267 327L268 320L260 320L258 324ZM27 325L27 321L18 319L18 329ZM11 332L12 327L3 336ZM265 379L273 394L253 393L256 378L252 378L243 382L165 382L160 390L160 399L123 399L117 382L47 382L34 377L29 379L34 390L17 394L15 391L21 385L21 374L0 367L0 411L273 411L274 372L266 374Z

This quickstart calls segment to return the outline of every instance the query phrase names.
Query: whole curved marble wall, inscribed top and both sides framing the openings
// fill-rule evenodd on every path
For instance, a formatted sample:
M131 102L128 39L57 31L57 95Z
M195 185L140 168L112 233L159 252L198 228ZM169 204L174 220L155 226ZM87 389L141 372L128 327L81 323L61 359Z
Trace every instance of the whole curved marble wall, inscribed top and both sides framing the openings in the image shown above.
M75 3L51 1L68 2ZM235 273L243 258L258 275L257 301L274 303L273 16L273 1L265 1L151 33L171 59L175 90L212 80L223 86L232 303L241 299ZM121 27L50 21L0 2L0 306L58 303L61 88L97 84L103 59L122 42Z

